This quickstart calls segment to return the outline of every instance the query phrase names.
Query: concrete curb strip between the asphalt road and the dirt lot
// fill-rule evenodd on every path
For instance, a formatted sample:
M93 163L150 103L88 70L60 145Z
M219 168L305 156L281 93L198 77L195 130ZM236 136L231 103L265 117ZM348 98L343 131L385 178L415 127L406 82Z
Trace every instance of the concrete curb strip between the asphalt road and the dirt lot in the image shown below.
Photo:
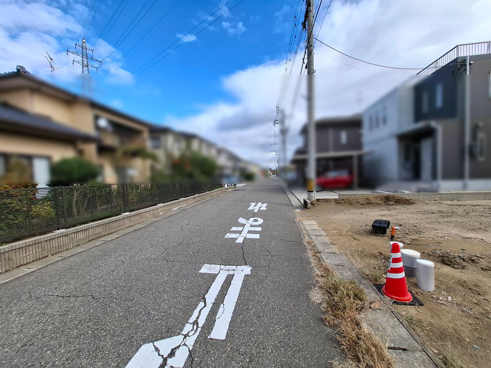
M298 198L292 193L286 192L286 194L293 206L300 204ZM390 303L385 300L386 298L382 298L375 287L358 272L355 264L330 243L329 237L317 222L299 221L299 223L305 237L312 240L322 260L329 268L334 270L340 278L359 284L366 291L370 300L382 301L382 308L364 312L362 319L370 332L387 343L396 367L443 368L438 359L424 346Z

